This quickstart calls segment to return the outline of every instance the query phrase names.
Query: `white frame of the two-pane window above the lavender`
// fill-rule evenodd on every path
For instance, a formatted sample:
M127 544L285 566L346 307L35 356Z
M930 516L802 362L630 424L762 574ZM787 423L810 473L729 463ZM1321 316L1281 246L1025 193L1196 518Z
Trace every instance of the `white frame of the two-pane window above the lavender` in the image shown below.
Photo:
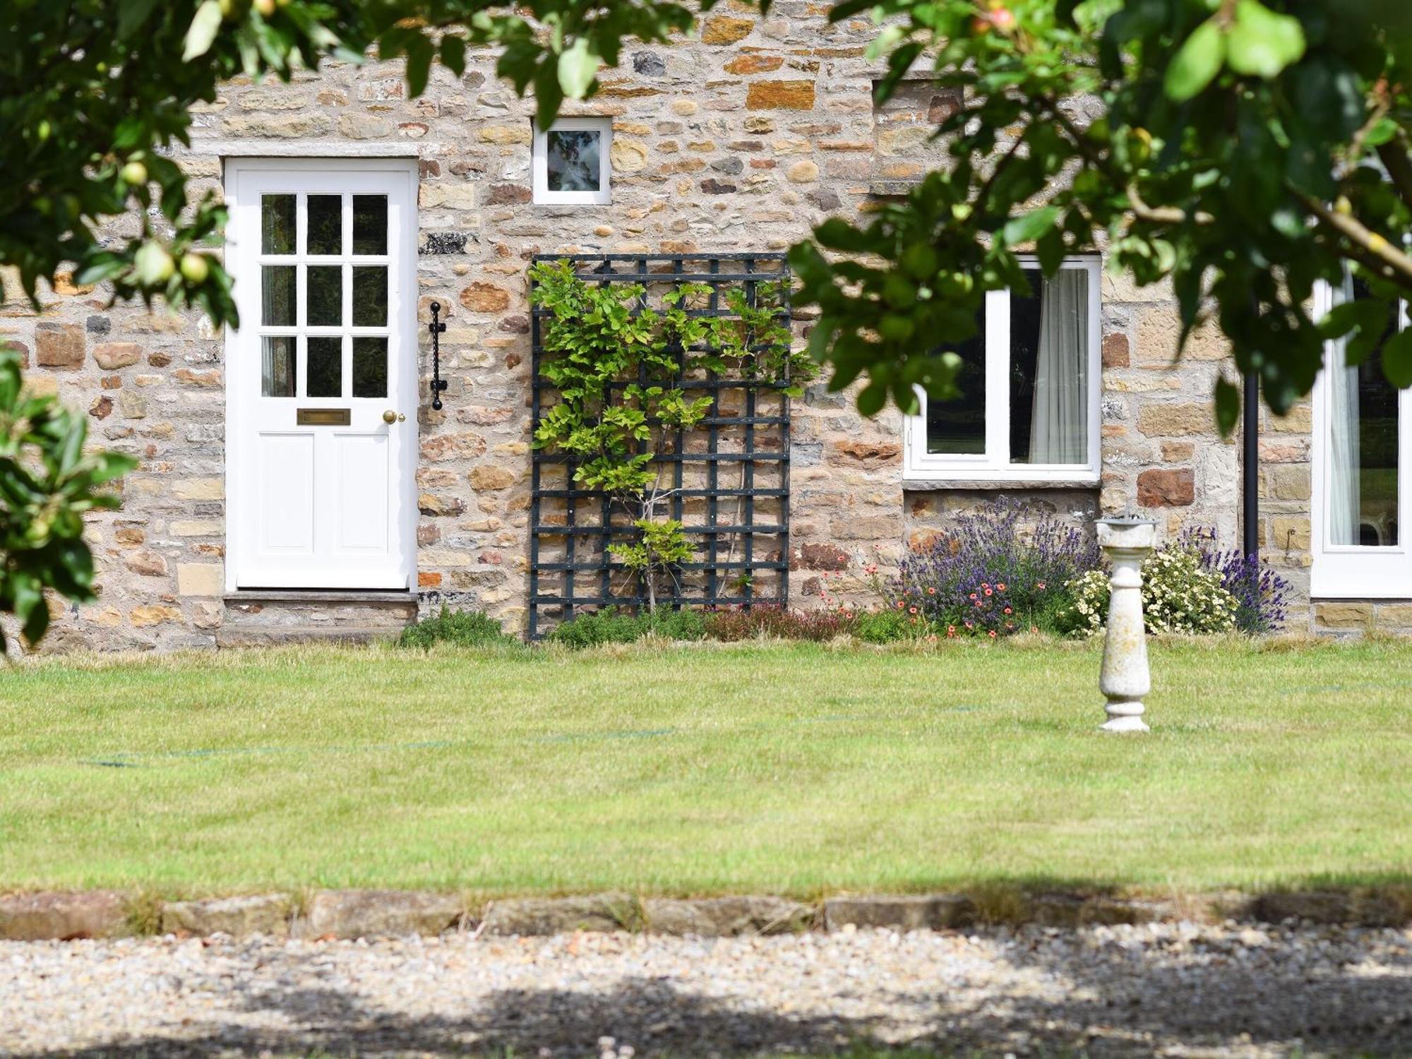
M1025 268L1039 260L1021 257ZM1103 388L1101 278L1099 257L1073 257L1062 268L1089 274L1089 438L1087 463L1010 462L1010 291L986 294L986 452L943 453L926 450L926 394L918 391L921 409L904 426L904 481L1065 481L1096 484L1103 463L1100 452L1099 397Z

